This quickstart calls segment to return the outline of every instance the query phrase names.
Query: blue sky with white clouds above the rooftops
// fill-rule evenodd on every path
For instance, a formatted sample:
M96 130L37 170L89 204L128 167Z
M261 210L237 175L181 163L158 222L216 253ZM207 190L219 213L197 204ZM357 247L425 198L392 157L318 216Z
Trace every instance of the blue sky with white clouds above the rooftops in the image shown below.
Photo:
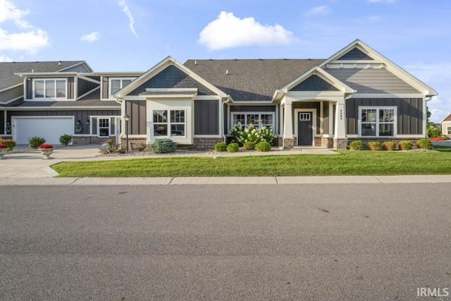
M187 59L327 59L354 39L439 92L451 112L451 1L0 0L0 61L144 71Z

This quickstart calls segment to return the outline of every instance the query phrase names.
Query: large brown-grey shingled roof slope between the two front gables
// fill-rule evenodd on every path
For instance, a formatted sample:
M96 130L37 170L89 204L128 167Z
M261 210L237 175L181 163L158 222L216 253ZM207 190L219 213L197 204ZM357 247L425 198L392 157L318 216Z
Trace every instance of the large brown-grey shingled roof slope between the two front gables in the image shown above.
M270 102L276 90L324 59L188 60L184 63L235 102Z

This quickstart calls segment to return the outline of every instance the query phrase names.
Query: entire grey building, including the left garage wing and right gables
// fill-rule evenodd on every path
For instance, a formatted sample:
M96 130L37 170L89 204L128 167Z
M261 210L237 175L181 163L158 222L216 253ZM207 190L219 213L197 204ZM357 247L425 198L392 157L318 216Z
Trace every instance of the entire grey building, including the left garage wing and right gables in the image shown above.
M170 137L211 149L233 125L252 123L271 126L280 147L344 149L357 139L425 137L426 102L437 95L359 39L328 59L179 63L168 56L144 73L47 63L51 70L24 63L10 73L15 82L0 85L1 136L23 143L52 133L54 142L64 132L78 144L112 138L123 145L127 132L131 148ZM4 64L14 63L0 63L0 74Z

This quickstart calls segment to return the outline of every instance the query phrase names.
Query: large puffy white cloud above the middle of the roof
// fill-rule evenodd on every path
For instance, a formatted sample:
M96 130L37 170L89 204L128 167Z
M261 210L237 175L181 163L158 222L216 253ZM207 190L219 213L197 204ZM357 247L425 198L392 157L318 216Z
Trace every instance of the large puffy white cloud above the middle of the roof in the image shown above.
M237 18L221 11L199 34L199 43L211 50L252 45L290 44L295 37L281 25L261 25L254 18Z

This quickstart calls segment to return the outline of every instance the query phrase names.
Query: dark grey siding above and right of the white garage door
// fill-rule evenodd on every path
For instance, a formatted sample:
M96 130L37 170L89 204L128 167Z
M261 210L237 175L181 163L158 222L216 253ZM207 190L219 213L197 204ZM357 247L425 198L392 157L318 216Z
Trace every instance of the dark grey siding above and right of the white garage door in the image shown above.
M7 120L11 121L11 117L16 116L74 116L74 129L77 122L80 121L82 124L82 133L89 134L89 126L86 122L89 121L89 116L121 116L120 110L70 110L70 111L7 111ZM94 120L91 124L92 133L96 131L97 126L94 125ZM97 124L97 123L96 123ZM72 135L75 133L71 133Z

